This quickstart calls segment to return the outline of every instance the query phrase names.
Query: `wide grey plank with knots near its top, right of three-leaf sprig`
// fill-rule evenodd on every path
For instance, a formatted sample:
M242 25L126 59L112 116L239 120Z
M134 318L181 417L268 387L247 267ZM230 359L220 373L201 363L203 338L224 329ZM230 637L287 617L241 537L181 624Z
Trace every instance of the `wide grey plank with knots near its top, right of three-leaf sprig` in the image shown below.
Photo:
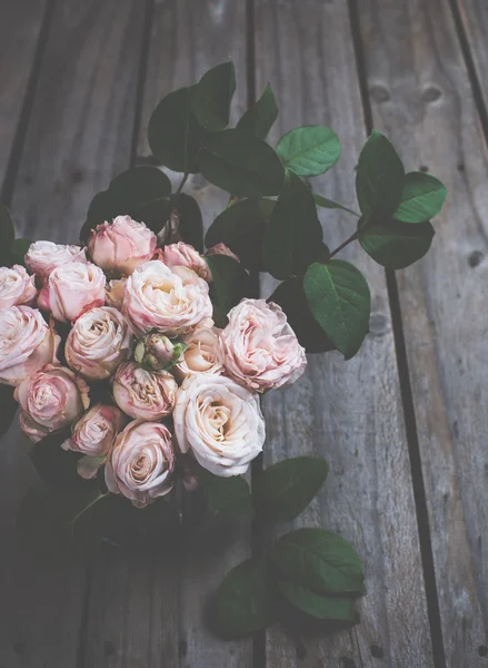
M447 2L357 4L375 126L448 187L432 250L399 272L450 668L486 665L488 155ZM479 47L481 48L481 46Z

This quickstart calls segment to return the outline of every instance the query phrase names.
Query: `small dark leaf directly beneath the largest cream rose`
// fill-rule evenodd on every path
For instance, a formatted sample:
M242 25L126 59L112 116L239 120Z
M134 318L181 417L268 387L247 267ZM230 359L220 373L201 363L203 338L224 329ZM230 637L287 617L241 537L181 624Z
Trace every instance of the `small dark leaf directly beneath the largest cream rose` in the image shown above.
M217 514L241 518L252 514L252 497L241 475L220 478L205 473L209 508Z

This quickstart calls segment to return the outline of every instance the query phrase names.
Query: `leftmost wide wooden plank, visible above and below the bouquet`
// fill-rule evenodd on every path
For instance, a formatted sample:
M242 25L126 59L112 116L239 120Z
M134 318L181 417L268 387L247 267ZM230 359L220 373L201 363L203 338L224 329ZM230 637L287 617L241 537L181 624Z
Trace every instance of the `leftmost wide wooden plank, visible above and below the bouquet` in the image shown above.
M128 165L142 18L137 0L56 6L13 190L21 234L76 240L93 193ZM16 512L37 477L18 426L2 445L0 665L74 667L84 566L46 570L19 552Z

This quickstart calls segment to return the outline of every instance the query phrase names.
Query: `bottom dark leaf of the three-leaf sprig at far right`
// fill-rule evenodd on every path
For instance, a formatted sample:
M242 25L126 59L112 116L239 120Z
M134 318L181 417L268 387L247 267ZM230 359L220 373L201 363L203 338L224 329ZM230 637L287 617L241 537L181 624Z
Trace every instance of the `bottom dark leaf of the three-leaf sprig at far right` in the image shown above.
M361 222L359 222L360 224ZM359 243L375 262L387 269L402 269L429 250L435 229L430 223L369 223L359 229Z

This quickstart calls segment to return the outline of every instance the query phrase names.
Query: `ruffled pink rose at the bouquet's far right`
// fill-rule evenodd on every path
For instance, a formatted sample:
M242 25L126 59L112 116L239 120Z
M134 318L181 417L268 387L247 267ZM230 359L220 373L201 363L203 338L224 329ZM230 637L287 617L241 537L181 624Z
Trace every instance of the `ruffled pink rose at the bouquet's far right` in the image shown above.
M277 304L242 299L228 314L221 333L223 363L241 385L265 392L293 383L307 357Z

